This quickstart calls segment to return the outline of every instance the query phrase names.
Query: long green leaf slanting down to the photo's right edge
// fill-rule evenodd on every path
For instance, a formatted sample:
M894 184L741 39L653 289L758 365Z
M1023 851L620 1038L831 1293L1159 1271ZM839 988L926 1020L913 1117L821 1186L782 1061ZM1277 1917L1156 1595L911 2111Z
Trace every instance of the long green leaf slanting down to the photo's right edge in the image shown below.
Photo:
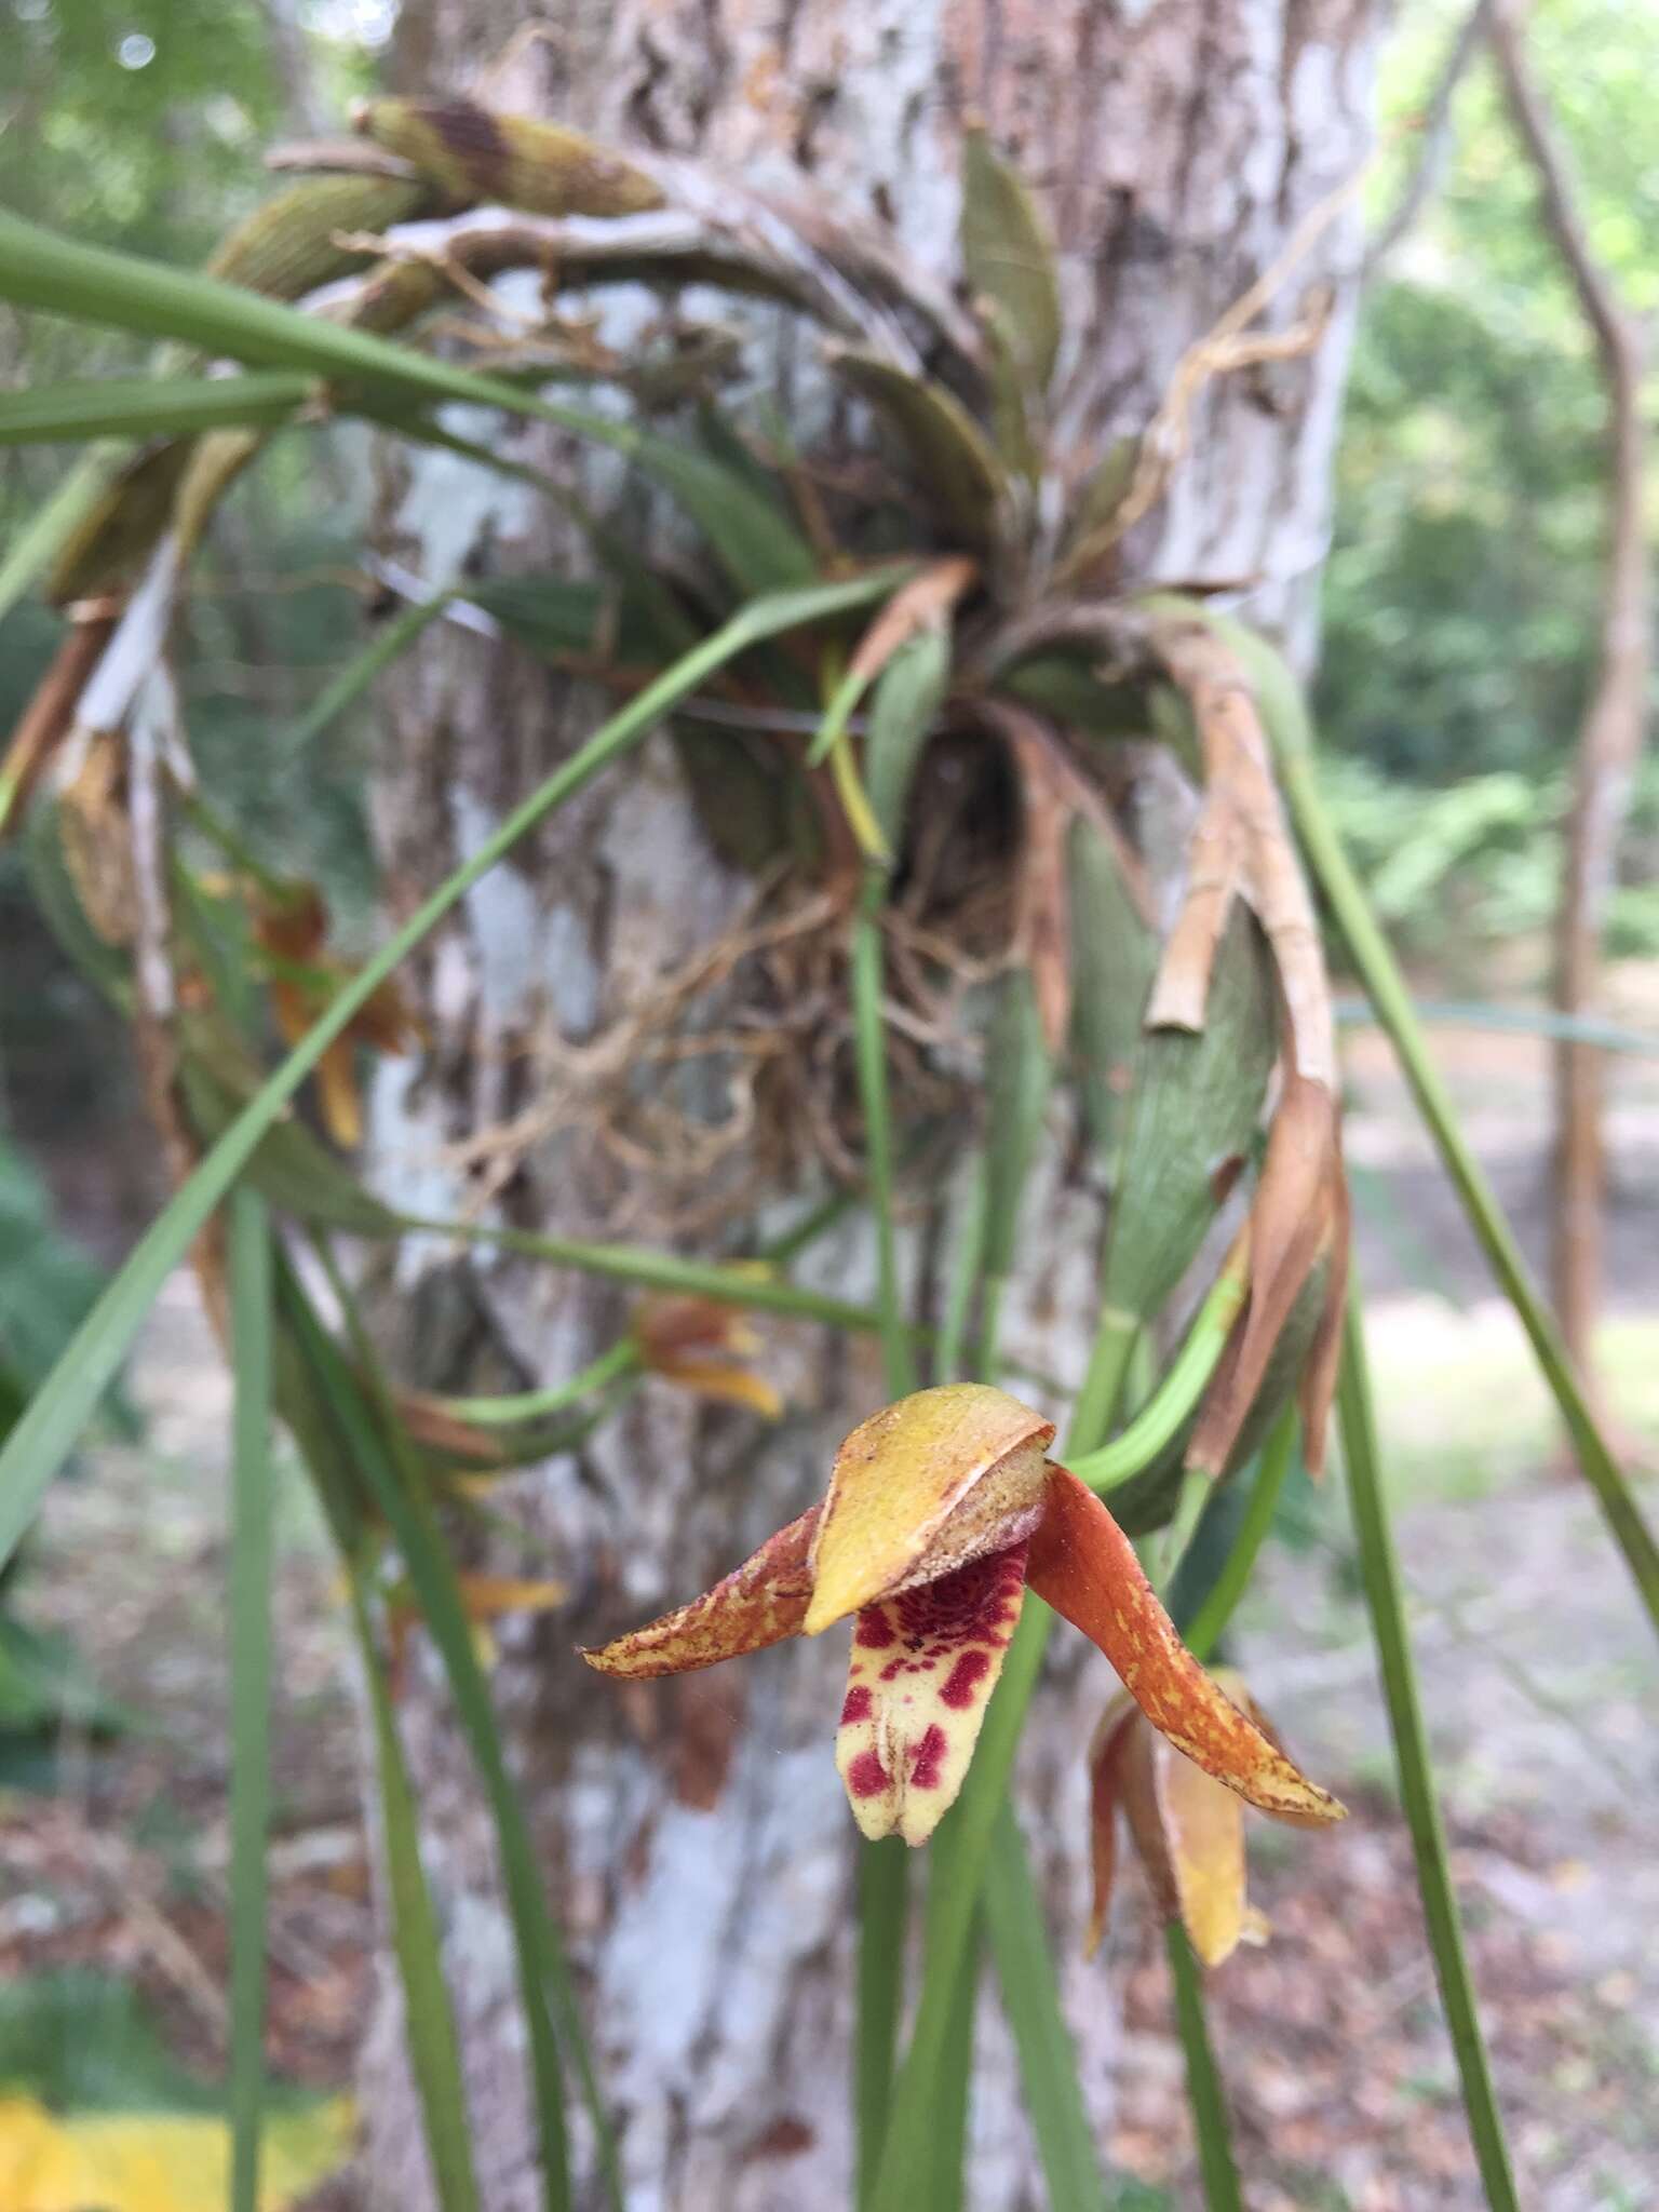
M1544 1369L1544 1380L1562 1409L1562 1420L1573 1438L1579 1467L1595 1491L1615 1544L1624 1553L1648 1617L1659 1628L1659 1544L1641 1517L1630 1484L1595 1422L1584 1387L1573 1371L1573 1360L1526 1270L1515 1234L1458 1126L1458 1113L1440 1079L1440 1071L1429 1057L1429 1042L1411 1004L1411 993L1325 812L1312 754L1305 743L1290 741L1279 745L1279 779L1290 801L1303 852L1347 940L1349 956L1376 1006L1378 1022L1394 1042L1418 1110L1440 1148L1440 1159L1458 1188L1469 1223L1491 1261L1504 1296L1520 1314L1537 1365Z

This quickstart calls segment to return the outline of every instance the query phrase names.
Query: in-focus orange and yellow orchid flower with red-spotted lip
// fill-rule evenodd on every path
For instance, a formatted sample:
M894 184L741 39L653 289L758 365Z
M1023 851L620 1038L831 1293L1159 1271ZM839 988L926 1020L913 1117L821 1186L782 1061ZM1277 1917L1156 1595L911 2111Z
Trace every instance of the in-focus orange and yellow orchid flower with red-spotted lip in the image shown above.
M1148 1721L1263 1812L1343 1807L1181 1644L1135 1548L1048 1458L1053 1422L945 1383L885 1407L810 1506L723 1582L584 1650L602 1674L686 1674L856 1617L836 1765L865 1836L925 1843L956 1801L1026 1590L1099 1646Z

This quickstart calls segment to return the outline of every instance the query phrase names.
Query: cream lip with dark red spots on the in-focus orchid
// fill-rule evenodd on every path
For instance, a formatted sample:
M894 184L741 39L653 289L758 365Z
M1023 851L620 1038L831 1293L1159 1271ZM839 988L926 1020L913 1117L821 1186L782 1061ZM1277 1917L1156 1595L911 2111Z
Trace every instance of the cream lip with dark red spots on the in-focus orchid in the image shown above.
M836 1767L872 1840L927 1843L956 1803L1026 1595L1026 1546L865 1606Z

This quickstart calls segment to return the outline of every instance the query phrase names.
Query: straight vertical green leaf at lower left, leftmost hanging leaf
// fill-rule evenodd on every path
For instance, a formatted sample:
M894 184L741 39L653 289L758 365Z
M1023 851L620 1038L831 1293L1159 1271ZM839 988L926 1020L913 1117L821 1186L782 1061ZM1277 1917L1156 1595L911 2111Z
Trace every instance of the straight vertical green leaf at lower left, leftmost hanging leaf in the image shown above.
M259 2212L270 1827L272 1270L265 1201L230 1197L230 2212Z

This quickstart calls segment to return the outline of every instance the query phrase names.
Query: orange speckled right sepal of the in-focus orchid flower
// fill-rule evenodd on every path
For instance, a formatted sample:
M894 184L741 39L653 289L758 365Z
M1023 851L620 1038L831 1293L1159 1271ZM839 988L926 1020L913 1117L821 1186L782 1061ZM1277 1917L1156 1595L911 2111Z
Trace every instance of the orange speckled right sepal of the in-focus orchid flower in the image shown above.
M1066 1467L1051 1469L1026 1582L1106 1652L1146 1719L1206 1774L1281 1818L1325 1825L1345 1816L1206 1674L1130 1540Z

